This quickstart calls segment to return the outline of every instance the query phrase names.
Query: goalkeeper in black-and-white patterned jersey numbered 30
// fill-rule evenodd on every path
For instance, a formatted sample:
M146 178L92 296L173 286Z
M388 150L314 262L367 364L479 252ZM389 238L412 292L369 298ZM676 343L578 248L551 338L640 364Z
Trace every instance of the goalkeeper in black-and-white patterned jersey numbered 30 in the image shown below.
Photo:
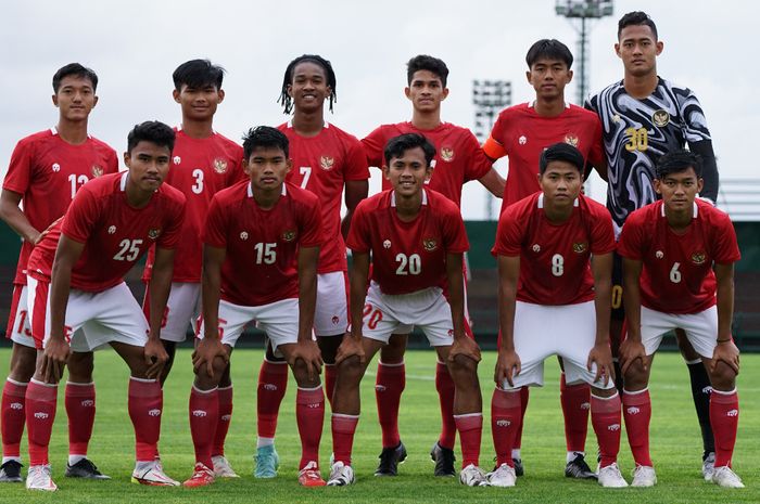
M657 26L647 14L630 12L622 16L618 23L615 50L623 62L623 80L608 86L586 103L604 125L607 168L601 169L600 175L608 181L607 208L612 214L616 236L620 235L631 211L657 199L651 182L660 156L686 144L704 160L705 184L700 195L712 202L718 196L718 168L705 114L689 89L657 75L657 56L662 47L662 41L657 38ZM621 262L616 256L610 326L613 357L618 354L625 314ZM676 336L688 366L701 427L702 471L709 477L715 450L710 430L710 380L699 353L692 348L683 332L677 331ZM618 377L621 379L622 373L618 373ZM621 389L621 384L618 388Z

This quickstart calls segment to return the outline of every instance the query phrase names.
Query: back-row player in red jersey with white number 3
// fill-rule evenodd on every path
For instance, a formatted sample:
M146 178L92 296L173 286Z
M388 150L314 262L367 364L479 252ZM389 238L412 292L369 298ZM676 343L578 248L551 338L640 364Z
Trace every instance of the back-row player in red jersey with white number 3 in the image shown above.
M185 194L187 210L161 328L161 341L169 356L161 376L162 384L172 369L176 345L185 341L188 327L201 315L201 234L211 201L218 191L245 178L241 167L242 147L213 129L214 114L225 98L221 89L224 68L208 60L191 60L179 65L172 77L173 96L181 107L182 124L175 129L177 141L166 183ZM143 272L145 282L150 281L153 258L151 250ZM150 319L148 295L143 309L145 318ZM212 447L214 465L208 467L217 477L235 478L238 475L225 457L225 439L232 415L229 369L225 370L219 382L218 397L219 413Z

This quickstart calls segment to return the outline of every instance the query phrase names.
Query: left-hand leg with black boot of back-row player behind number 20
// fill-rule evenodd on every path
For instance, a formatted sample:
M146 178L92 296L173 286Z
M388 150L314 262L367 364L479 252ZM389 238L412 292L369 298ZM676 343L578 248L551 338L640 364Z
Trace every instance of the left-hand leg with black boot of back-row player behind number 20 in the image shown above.
M398 434L398 408L406 386L404 353L408 338L408 334L392 334L380 350L375 400L382 431L382 452L375 476L396 476L398 464L406 460L406 448Z

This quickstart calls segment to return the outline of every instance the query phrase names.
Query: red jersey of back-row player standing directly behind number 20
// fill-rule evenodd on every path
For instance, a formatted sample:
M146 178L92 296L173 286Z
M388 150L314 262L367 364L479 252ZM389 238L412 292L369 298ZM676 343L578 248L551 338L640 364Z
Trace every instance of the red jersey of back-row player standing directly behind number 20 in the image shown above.
M461 205L461 186L470 180L484 177L493 165L480 148L478 139L467 128L441 122L438 128L422 130L407 121L382 125L362 140L369 166L382 167L385 164L383 152L388 141L406 133L420 133L433 144L435 157L428 186L457 206ZM382 189L391 189L391 183L384 178Z

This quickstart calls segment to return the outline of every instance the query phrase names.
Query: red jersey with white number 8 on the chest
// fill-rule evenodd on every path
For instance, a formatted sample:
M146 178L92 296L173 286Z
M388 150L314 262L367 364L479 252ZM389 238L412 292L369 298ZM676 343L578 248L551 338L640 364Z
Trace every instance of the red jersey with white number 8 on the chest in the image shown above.
M612 218L604 205L581 194L570 219L555 224L546 217L544 194L536 193L502 214L491 251L520 256L518 300L562 306L594 299L588 258L612 250Z

